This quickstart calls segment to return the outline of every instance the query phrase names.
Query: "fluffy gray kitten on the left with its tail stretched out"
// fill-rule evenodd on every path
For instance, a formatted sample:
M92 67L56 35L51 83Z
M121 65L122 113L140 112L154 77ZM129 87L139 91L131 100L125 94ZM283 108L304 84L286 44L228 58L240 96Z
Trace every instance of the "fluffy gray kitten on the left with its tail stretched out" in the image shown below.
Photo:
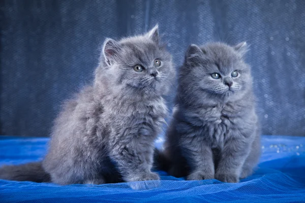
M68 100L42 162L4 166L0 178L66 184L158 180L154 141L175 72L158 25L143 36L107 39L94 84Z

